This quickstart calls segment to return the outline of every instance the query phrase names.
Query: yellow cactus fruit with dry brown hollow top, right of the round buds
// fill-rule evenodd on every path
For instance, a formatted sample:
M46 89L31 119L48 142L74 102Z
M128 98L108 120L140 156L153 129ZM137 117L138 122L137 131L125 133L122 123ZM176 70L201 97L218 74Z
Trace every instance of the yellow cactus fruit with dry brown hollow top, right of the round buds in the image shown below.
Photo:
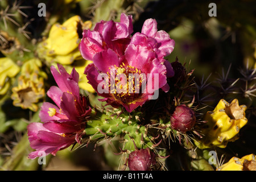
M217 146L225 148L230 141L238 139L237 134L245 126L245 105L238 105L238 100L234 99L231 104L225 100L220 100L213 111L208 111L205 115L206 126L202 127L204 137L195 144L199 148L209 148Z

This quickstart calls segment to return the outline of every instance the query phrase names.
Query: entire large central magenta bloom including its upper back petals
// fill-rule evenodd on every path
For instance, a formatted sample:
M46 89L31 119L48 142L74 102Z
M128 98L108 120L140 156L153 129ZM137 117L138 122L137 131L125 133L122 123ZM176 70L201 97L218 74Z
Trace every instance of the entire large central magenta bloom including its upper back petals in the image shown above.
M174 49L167 32L157 31L153 19L130 38L132 29L131 16L122 14L120 23L102 21L93 31L85 31L79 45L81 55L93 61L85 74L98 95L105 97L101 101L129 112L156 99L159 88L168 92L167 77L174 76L164 59Z

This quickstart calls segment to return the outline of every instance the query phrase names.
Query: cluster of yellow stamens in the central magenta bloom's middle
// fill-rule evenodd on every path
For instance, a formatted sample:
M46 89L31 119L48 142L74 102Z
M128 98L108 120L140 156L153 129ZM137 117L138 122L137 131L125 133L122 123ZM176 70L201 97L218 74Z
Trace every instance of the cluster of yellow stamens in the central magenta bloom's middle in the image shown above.
M119 67L114 65L110 69L109 89L117 100L131 104L141 96L146 87L146 75L140 69L122 63Z

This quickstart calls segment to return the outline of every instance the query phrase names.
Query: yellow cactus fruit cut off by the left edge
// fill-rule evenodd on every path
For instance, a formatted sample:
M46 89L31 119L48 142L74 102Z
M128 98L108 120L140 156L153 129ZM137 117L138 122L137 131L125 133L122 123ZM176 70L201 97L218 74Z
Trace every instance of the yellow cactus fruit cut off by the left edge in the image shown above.
M0 58L0 63L0 95L3 95L10 88L9 78L15 77L20 68L8 57Z

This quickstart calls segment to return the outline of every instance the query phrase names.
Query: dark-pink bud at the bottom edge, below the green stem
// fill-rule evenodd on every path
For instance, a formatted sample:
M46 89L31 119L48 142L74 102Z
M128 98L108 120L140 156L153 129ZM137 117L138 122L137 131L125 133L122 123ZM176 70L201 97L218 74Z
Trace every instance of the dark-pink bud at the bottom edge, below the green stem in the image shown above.
M130 171L150 171L155 163L155 154L149 148L131 152L128 159Z

